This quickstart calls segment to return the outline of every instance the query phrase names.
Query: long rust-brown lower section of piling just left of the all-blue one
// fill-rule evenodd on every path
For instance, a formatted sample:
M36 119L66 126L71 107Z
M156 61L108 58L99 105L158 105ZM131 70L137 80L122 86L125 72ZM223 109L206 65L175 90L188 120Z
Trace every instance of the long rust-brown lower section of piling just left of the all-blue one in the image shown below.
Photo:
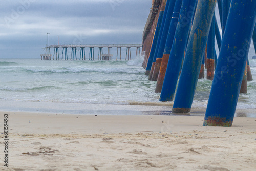
M161 62L155 93L161 93L170 54L164 54Z

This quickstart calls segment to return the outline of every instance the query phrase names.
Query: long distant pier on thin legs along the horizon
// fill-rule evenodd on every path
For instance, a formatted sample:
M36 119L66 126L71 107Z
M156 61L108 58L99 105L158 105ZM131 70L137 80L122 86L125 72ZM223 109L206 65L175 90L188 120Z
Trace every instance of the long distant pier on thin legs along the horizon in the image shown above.
M111 54L111 49L117 49L116 60L122 60L121 48L126 48L125 60L132 60L131 48L136 48L135 58L140 55L142 44L88 44L88 45L47 45L46 53L41 54L41 60L77 60L77 52L80 52L79 60L86 60L86 48L89 50L88 60L95 60L94 49L98 48L98 60L112 60L114 56ZM53 56L51 54L53 49ZM62 54L59 54L59 48L62 48ZM71 49L71 54L68 55L68 48ZM103 54L103 48L108 48L108 53ZM119 52L120 51L120 52ZM61 56L60 56L61 55ZM107 58L105 58L107 57Z

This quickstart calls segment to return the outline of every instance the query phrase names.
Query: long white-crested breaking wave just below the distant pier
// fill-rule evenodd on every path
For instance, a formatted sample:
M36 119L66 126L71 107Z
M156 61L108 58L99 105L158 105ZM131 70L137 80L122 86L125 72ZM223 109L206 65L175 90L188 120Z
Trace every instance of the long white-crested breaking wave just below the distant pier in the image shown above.
M144 74L142 69L133 68L61 68L61 69L24 69L29 73L118 73L118 74Z

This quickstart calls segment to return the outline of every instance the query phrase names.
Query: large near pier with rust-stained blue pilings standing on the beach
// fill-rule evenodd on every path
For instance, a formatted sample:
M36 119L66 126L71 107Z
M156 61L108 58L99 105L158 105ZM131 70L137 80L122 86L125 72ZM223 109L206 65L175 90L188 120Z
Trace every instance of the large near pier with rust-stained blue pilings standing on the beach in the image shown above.
M256 1L246 0L153 1L143 32L142 66L148 80L156 81L159 100L174 100L173 114L190 114L206 67L212 87L203 125L232 126L239 93L247 93L252 80L248 52L252 39L256 51L255 9Z

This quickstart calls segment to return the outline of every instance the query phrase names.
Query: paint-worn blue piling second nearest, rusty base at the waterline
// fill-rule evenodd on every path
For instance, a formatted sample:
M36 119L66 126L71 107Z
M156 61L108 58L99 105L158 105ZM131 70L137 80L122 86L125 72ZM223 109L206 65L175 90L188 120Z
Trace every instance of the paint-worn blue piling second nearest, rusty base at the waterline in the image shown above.
M181 71L173 113L190 113L217 0L199 0Z

